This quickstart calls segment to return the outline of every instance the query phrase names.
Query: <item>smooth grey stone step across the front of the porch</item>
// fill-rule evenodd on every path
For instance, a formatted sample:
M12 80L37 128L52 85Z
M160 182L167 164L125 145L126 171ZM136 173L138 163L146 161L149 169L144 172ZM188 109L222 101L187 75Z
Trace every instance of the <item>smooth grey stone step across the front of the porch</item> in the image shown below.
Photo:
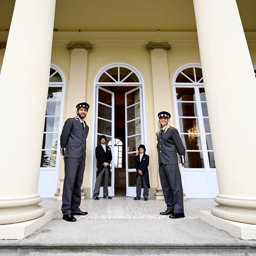
M256 256L255 240L240 240L200 219L53 219L23 240L0 240L12 255Z

